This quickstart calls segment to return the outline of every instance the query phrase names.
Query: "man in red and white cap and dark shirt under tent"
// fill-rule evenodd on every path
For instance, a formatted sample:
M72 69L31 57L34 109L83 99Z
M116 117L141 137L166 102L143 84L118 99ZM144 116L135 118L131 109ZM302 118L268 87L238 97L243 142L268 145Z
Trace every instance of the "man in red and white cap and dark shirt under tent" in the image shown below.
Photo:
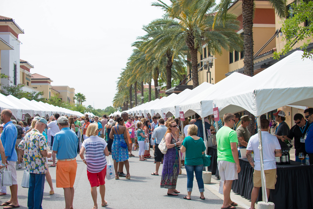
M283 136L286 136L290 130L288 124L285 122L285 120L286 120L285 112L282 110L279 110L276 113L274 113L273 115L275 116L275 121L277 121L279 123L278 127L276 128L275 135L278 138L278 142L280 144L281 150L282 151L284 151L284 150L289 151L290 148L288 147L288 145L282 141L282 140L284 140Z

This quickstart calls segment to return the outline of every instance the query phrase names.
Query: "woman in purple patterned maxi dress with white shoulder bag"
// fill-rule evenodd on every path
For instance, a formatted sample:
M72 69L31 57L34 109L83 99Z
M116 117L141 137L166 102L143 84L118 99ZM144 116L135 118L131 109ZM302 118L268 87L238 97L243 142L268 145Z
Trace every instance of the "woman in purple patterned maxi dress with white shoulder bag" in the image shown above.
M177 196L180 193L176 190L177 178L179 173L179 157L178 146L182 144L179 142L176 136L177 124L175 121L171 121L167 124L167 132L165 133L165 143L167 147L167 153L163 158L163 169L161 177L161 188L167 189L168 196ZM175 194L173 194L175 193Z

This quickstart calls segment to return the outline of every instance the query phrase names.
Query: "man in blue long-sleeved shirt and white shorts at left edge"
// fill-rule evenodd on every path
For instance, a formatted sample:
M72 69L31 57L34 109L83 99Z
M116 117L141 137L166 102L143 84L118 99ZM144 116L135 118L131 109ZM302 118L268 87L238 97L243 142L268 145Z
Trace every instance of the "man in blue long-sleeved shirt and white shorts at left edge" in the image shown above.
M11 171L12 175L12 186L10 186L11 199L2 203L1 206L8 206L8 208L18 206L18 182L16 177L16 161L18 155L15 151L16 139L18 131L15 125L11 122L12 112L9 109L4 109L1 112L1 120L4 122L3 131L1 134L1 141L4 147L4 152L7 160L1 159L2 164L8 162L8 170ZM6 208L6 207L4 207Z

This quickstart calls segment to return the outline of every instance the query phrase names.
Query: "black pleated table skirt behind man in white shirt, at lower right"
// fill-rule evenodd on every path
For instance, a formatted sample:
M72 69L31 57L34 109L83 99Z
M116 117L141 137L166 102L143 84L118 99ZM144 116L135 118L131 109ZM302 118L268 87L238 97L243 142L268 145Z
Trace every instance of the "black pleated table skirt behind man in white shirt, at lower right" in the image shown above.
M253 171L247 159L239 159L241 171L234 180L232 190L251 200ZM313 208L313 165L300 165L291 161L290 165L277 165L275 190L270 191L269 201L275 208L311 209ZM257 201L262 201L260 189Z

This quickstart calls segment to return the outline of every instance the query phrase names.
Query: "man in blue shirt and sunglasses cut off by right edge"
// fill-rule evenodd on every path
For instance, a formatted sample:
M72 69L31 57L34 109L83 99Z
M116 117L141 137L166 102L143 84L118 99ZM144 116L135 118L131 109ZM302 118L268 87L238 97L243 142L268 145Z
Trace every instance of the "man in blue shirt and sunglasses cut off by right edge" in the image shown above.
M305 134L305 151L310 157L310 164L313 164L313 108L310 107L304 111L304 116L310 123Z

